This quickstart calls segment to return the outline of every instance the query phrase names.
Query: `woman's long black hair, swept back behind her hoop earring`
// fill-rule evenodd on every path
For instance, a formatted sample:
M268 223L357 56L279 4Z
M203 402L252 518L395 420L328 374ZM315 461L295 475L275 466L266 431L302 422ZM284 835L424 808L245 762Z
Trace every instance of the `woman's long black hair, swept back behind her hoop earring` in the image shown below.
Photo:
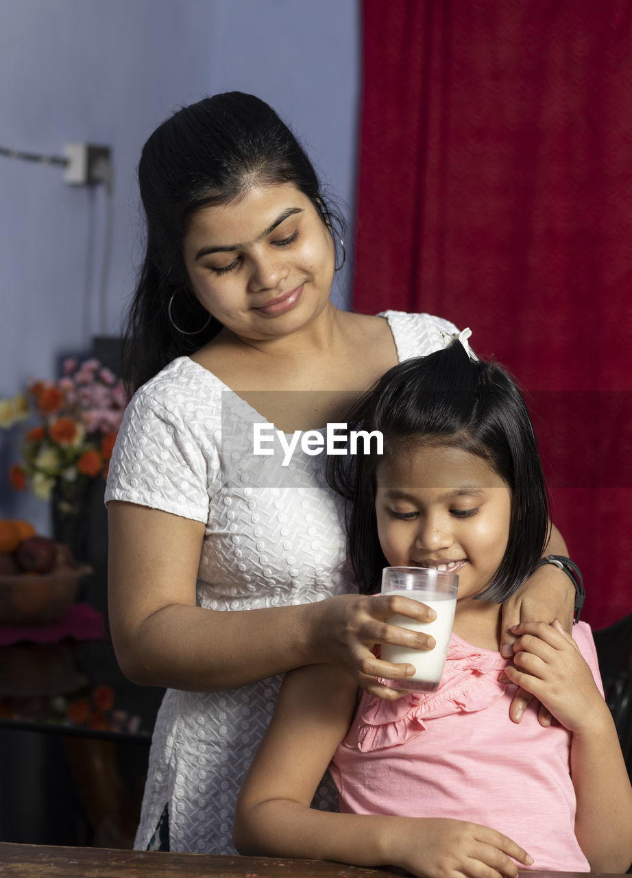
M255 185L290 183L319 212L334 247L343 236L341 216L327 204L294 134L268 104L240 91L205 97L163 122L142 150L138 176L147 241L125 328L123 377L132 390L221 329L212 319L197 332L208 313L190 291L183 260L194 212L226 204ZM178 332L169 320L174 293L173 319L195 335Z

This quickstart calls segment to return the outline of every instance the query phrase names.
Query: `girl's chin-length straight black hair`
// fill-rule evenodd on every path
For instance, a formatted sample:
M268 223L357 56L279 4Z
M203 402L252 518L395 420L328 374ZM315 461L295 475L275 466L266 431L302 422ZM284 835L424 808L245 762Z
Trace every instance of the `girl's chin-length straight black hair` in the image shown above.
M348 430L379 430L384 454L418 443L449 446L482 457L511 490L505 555L480 600L506 601L521 586L549 536L549 495L527 407L497 363L473 360L461 342L394 366L347 417ZM363 594L379 591L388 566L377 538L375 453L327 458L329 484L350 501L350 560Z

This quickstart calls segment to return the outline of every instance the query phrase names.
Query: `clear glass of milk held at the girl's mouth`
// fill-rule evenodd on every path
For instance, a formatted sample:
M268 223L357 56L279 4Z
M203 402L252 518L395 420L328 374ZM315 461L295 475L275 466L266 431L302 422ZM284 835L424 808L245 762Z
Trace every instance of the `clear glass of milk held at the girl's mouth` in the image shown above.
M456 608L458 576L433 570L430 567L384 567L382 572L382 594L402 594L413 601L420 601L432 607L436 613L434 622L417 622L410 616L391 615L386 622L412 631L423 631L435 637L432 650L413 650L406 646L381 644L384 661L396 665L407 663L415 667L412 677L402 680L386 680L391 689L411 689L419 692L434 692L439 686L448 654L449 638Z

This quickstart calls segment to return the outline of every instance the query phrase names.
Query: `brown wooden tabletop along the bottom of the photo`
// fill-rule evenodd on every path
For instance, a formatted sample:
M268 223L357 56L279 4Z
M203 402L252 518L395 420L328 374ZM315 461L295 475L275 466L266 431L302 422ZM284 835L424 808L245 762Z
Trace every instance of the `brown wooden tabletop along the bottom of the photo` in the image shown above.
M399 878L323 860L220 857L203 853L144 853L104 847L45 847L0 843L6 878ZM524 878L534 873L521 873ZM586 878L585 872L538 872L537 878ZM617 878L624 878L623 875Z

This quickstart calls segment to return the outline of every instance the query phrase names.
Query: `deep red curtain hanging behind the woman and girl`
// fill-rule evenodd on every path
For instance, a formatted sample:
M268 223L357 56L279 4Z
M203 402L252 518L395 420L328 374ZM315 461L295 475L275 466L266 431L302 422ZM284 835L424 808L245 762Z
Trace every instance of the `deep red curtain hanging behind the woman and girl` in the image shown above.
M632 2L363 0L355 307L530 394L584 618L632 611Z

